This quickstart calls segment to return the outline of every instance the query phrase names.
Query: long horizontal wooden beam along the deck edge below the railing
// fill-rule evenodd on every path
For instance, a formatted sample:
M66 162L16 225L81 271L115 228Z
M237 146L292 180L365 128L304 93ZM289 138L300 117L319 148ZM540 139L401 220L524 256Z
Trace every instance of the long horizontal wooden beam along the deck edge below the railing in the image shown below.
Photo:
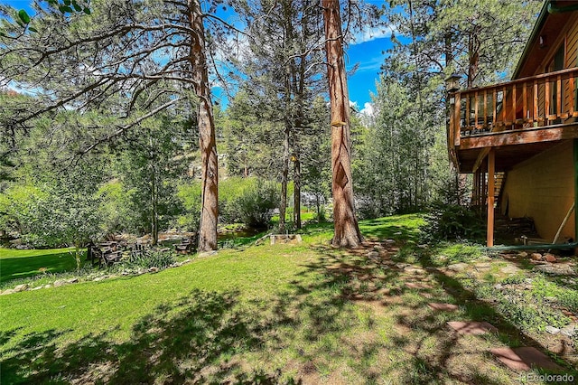
M502 131L480 136L465 136L461 138L460 150L474 148L526 145L536 142L553 142L556 140L578 138L578 125L562 125L558 127L534 127L514 131Z

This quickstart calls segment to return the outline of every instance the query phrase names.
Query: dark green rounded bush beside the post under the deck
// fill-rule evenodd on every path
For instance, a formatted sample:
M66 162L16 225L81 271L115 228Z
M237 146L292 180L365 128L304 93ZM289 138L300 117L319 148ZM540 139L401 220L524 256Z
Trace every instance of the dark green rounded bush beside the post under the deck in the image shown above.
M434 208L425 215L425 224L420 228L424 240L483 239L484 221L469 207L456 204Z

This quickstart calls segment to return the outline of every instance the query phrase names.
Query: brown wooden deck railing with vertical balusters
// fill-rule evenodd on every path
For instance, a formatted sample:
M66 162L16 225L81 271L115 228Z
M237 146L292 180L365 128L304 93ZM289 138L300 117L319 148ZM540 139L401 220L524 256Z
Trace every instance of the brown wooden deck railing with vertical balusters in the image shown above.
M578 68L456 92L450 137L571 123L578 117ZM572 120L570 120L572 119Z

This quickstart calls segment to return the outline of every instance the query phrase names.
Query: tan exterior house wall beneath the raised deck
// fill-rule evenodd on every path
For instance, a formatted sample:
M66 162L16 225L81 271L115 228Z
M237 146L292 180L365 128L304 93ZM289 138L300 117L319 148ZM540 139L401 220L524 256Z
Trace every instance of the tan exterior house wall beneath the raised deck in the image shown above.
M506 174L500 207L511 218L534 219L540 237L552 241L574 202L573 142L566 141L517 164ZM562 237L574 238L575 216Z

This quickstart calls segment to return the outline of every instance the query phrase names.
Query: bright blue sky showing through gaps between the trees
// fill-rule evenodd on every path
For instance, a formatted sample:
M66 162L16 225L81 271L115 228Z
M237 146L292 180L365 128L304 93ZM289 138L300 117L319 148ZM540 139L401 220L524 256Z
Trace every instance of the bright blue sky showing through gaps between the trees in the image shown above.
M0 3L12 5L17 9L25 9L32 14L29 7L30 0L0 0ZM380 66L386 57L383 52L391 48L391 45L387 33L378 32L377 36L362 33L357 43L352 43L346 48L347 69L350 70L359 63L359 69L348 80L350 100L356 102L359 109L364 108L365 103L371 101L370 92L376 90ZM219 94L219 92L216 93Z

